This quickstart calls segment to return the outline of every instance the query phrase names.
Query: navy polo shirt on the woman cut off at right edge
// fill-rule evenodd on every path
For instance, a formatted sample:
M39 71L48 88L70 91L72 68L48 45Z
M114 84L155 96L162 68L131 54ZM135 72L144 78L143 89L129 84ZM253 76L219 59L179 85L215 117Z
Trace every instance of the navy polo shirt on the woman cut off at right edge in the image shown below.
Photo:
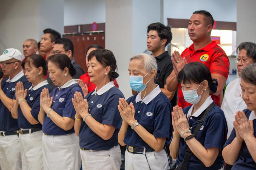
M243 112L245 113L248 120L253 120L254 137L256 137L256 116L254 111L249 111L248 109L244 109ZM234 140L235 137L237 137L236 130L233 128L224 147L229 145ZM232 170L236 170L236 169L243 169L243 170L256 169L256 163L254 162L250 152L248 151L246 143L244 141L242 143L242 147L239 152L239 158L232 167Z

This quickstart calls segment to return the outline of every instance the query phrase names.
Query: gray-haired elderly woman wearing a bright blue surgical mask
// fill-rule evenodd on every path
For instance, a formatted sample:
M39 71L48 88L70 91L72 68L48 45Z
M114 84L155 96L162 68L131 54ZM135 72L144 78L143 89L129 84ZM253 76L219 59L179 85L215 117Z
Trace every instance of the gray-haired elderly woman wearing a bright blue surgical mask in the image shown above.
M130 86L138 94L127 101L120 98L118 109L123 119L118 133L120 145L127 145L126 170L166 170L169 159L164 147L170 144L171 104L154 80L155 57L140 53L129 63Z

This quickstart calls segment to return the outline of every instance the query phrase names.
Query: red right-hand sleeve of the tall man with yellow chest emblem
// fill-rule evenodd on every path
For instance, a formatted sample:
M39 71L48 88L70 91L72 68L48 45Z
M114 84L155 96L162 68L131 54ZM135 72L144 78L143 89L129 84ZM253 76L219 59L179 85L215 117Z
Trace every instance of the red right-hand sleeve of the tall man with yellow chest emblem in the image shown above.
M218 52L214 54L214 56L211 59L210 71L212 74L221 74L226 79L228 78L229 59L225 52Z

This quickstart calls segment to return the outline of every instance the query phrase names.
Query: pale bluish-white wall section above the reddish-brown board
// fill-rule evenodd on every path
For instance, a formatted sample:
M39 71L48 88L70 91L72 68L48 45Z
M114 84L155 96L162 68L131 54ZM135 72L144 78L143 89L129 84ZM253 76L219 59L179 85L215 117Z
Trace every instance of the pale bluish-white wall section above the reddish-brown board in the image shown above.
M105 9L105 0L65 0L64 26L103 23Z

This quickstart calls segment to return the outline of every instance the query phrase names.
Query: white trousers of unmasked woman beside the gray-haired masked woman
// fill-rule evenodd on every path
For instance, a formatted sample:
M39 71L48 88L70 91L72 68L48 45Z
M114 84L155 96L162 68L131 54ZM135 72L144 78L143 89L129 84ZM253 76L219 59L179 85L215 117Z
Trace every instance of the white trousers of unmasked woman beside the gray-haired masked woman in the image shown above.
M83 170L120 170L121 150L119 145L105 151L80 149Z

